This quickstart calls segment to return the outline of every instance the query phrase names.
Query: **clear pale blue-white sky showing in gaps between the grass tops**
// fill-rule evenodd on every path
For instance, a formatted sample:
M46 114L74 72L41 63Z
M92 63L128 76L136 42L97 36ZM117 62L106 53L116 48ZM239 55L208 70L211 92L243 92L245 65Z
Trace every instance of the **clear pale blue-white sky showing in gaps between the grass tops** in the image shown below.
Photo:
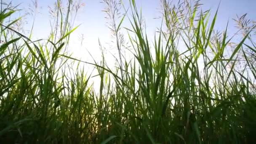
M23 9L22 12L26 11L29 4L32 3L31 0L12 0L14 4L21 4L19 8ZM65 1L65 0L64 0ZM81 0L85 3L75 21L75 25L80 25L80 27L74 32L72 36L71 45L69 51L74 53L74 56L81 58L83 60L88 58L88 51L93 55L99 53L98 39L101 43L108 47L108 42L110 41L109 29L106 26L106 19L104 19L105 14L102 12L104 4L100 3L101 0ZM123 0L124 3L128 4L128 0ZM175 1L175 0L174 0ZM49 9L48 6L53 5L55 0L37 0L39 12L35 19L35 27L33 31L33 36L35 39L45 38L48 36L50 31L49 23ZM154 19L160 16L160 0L136 0L138 6L142 6L142 12L144 19L147 24L147 33L153 37L157 27L160 27L161 20ZM218 5L219 0L201 0L203 3L203 10L211 9L212 15L214 15ZM256 20L256 0L221 0L221 5L219 8L219 14L216 21L217 29L224 29L226 27L227 21L229 20L229 32L234 31L234 22L232 18L248 13L248 18ZM24 29L29 29L31 27L32 20L28 19L28 24L24 26ZM84 35L83 45L80 45L79 37ZM99 55L99 54L98 54Z

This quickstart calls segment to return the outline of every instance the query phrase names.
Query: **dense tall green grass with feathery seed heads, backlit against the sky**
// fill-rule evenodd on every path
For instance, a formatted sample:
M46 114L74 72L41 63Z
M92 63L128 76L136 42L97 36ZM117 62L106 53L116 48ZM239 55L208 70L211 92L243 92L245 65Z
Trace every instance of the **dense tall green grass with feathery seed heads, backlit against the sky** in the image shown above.
M20 18L11 20L15 9L2 4L0 143L255 141L255 26L240 17L243 33L234 43L227 29L214 31L217 12L210 17L210 11L200 11L199 1L160 2L163 25L149 42L135 0L118 22L121 3L103 0L116 39L116 69L108 67L104 54L101 63L90 63L65 51L75 30L69 21L72 1L64 12L57 0L51 35L37 41L15 30ZM131 24L126 34L120 30L124 20ZM131 60L122 55L123 35L130 40ZM95 67L98 75L72 69L77 61ZM91 77L100 78L99 91L89 84Z

